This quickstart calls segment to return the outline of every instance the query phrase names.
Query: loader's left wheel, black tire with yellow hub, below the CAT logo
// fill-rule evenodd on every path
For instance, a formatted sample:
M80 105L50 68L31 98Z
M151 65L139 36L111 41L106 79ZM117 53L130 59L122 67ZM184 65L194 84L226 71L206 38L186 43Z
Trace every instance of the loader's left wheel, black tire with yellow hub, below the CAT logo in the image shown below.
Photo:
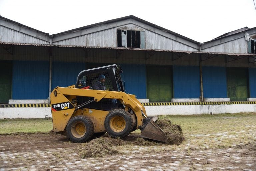
M91 119L79 115L69 120L67 125L67 135L72 142L86 142L92 138L93 134L94 125Z

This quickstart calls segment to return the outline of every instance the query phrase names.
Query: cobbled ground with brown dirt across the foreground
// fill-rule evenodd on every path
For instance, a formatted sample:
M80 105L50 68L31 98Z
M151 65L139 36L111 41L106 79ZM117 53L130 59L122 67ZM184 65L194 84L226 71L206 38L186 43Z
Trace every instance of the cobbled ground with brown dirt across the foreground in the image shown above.
M134 139L136 136L130 135L128 138ZM189 141L185 144L186 147L190 146ZM0 135L0 171L256 170L255 151L243 148L191 150L178 146L173 150L169 145L135 145L123 154L82 159L77 150L79 145L54 133Z

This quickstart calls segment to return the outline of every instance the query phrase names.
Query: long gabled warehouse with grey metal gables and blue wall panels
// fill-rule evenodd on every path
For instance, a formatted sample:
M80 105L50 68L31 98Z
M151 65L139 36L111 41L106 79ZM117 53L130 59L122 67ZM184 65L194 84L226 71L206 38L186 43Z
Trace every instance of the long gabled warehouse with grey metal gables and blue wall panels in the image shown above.
M256 101L255 38L244 27L200 43L132 15L48 34L0 16L0 103L46 100L115 63L142 102Z

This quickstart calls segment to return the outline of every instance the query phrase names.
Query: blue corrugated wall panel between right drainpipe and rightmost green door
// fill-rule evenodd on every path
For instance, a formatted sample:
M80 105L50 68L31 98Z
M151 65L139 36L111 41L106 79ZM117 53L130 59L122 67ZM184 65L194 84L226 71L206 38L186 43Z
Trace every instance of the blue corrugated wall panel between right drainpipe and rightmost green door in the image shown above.
M202 67L204 98L227 98L225 67Z

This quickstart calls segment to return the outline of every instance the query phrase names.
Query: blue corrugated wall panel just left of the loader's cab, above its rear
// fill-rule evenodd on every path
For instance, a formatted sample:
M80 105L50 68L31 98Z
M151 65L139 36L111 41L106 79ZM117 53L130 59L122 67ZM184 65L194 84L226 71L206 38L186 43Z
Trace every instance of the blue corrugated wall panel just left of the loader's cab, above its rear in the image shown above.
M78 74L86 69L86 63L53 62L52 64L52 90L59 87L75 85Z

